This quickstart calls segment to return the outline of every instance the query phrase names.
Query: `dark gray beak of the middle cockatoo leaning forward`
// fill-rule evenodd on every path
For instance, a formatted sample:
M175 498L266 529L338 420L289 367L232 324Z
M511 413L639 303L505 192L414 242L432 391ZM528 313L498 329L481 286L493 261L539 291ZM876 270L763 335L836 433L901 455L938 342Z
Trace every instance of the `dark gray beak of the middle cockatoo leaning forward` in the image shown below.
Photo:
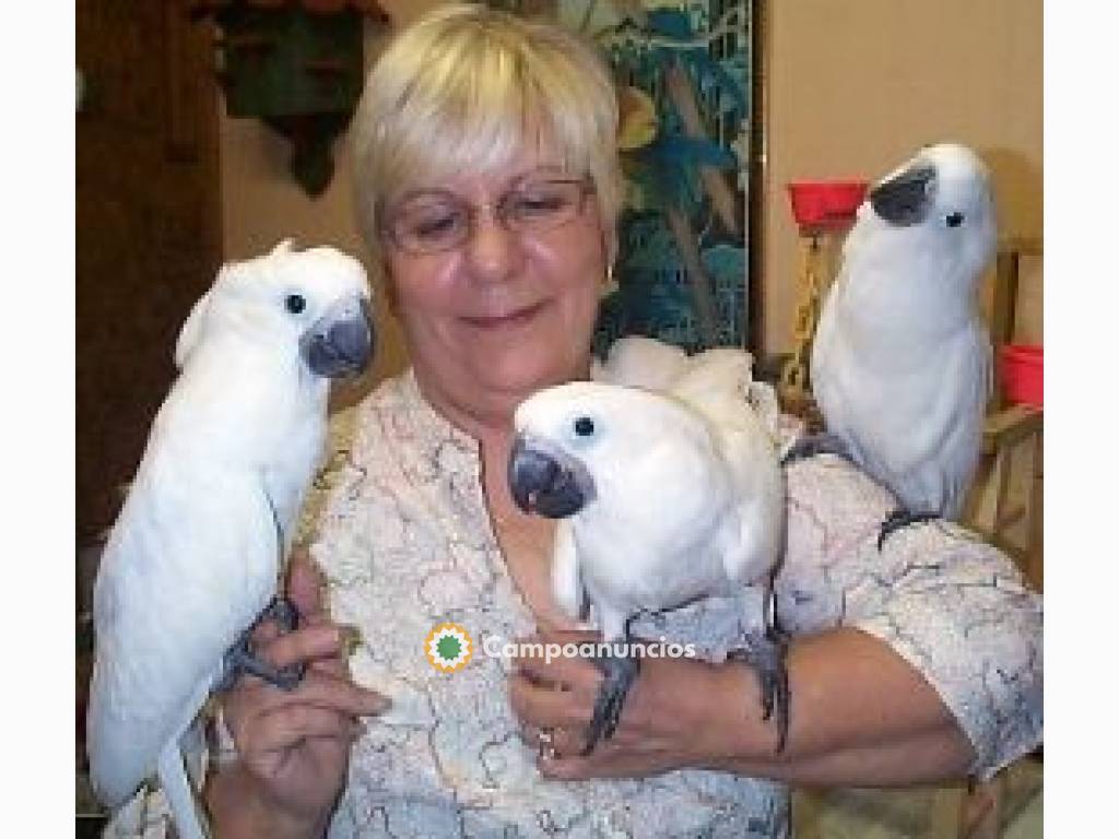
M549 519L574 516L594 500L594 480L586 466L523 434L509 455L509 489L517 507Z

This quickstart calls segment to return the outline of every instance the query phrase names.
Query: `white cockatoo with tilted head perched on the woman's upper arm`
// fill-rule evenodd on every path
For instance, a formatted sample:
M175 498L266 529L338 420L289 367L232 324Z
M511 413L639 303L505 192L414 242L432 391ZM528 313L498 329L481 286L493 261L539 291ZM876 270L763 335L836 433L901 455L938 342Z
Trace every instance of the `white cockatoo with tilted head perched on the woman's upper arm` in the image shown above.
M942 143L872 187L812 345L827 435L792 455L845 454L896 497L899 527L958 518L991 386L978 286L995 252L984 162Z

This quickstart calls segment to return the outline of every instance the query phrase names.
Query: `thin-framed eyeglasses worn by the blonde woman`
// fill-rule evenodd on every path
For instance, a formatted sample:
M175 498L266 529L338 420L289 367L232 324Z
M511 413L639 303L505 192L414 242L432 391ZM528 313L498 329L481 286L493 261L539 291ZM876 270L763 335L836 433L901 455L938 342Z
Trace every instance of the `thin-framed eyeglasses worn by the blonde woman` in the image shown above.
M533 179L516 185L490 206L506 230L534 235L554 230L581 216L586 196L593 191L590 178ZM470 239L477 217L486 206L468 204L443 190L425 191L396 207L383 230L396 247L408 254L453 251Z

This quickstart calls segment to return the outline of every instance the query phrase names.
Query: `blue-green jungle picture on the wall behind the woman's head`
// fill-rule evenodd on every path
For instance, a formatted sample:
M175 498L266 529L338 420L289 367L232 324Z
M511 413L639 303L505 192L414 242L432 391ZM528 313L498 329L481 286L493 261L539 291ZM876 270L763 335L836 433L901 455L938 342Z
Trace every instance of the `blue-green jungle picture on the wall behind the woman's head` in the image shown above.
M627 202L595 349L648 334L753 348L758 0L493 0L602 50L619 89ZM760 110L759 110L760 111Z

